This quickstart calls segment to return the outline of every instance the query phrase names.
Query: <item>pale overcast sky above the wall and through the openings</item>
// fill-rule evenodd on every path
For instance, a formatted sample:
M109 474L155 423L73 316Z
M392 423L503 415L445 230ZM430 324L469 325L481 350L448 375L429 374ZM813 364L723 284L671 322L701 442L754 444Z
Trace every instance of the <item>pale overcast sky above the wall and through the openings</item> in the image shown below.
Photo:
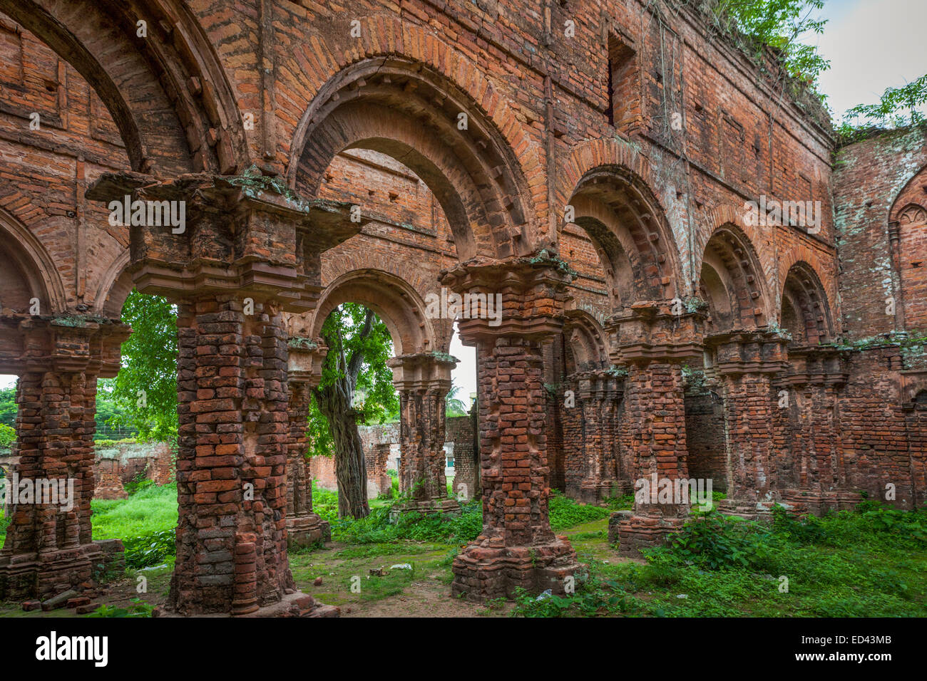
M927 73L927 0L826 0L820 14L829 19L823 35L805 39L831 60L820 83L837 122L846 109L874 104L885 88ZM469 404L476 392L476 352L454 334L451 355L461 360L454 383ZM16 376L0 375L0 387L15 382Z

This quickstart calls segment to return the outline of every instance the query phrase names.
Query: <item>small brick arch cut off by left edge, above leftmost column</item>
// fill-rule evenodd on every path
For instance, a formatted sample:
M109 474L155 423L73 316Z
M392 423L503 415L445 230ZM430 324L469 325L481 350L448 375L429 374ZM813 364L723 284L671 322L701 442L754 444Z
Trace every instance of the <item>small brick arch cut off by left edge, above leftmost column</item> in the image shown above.
M54 260L42 242L12 213L0 208L0 314L26 313L32 297L41 314L68 308L68 297Z

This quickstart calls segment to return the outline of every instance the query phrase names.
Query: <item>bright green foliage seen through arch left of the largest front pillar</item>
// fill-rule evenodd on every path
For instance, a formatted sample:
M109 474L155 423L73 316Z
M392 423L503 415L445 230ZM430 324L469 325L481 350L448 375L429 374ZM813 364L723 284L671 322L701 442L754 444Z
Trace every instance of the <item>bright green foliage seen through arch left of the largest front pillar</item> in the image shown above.
M111 425L133 428L141 439L177 437L177 309L166 298L133 290L122 306L132 335L122 344L116 378L101 381L117 411Z

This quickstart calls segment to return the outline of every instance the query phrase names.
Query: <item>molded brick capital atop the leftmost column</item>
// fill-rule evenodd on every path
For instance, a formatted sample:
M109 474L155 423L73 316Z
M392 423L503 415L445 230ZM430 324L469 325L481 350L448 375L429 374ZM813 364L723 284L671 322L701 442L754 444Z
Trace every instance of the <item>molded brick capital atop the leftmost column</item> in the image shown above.
M132 329L87 315L0 315L0 372L90 372L115 376Z

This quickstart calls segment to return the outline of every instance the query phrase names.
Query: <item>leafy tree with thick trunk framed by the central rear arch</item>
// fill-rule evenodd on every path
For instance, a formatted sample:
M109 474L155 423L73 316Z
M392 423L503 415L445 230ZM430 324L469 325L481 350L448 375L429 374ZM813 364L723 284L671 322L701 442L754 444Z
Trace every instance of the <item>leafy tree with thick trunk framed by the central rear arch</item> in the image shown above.
M322 380L312 390L311 453L334 451L338 516L362 518L370 514L370 506L358 422L384 422L399 411L386 363L392 342L386 324L356 303L335 309L322 335L329 349Z

